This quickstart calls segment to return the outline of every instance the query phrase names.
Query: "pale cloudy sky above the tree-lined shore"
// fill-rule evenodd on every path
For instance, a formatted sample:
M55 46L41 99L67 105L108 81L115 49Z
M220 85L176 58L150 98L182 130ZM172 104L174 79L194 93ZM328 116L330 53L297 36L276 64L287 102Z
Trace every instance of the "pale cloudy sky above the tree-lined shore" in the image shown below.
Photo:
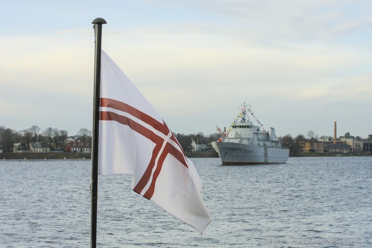
M2 1L0 126L91 130L94 30L175 133L241 104L277 136L372 134L372 2Z

